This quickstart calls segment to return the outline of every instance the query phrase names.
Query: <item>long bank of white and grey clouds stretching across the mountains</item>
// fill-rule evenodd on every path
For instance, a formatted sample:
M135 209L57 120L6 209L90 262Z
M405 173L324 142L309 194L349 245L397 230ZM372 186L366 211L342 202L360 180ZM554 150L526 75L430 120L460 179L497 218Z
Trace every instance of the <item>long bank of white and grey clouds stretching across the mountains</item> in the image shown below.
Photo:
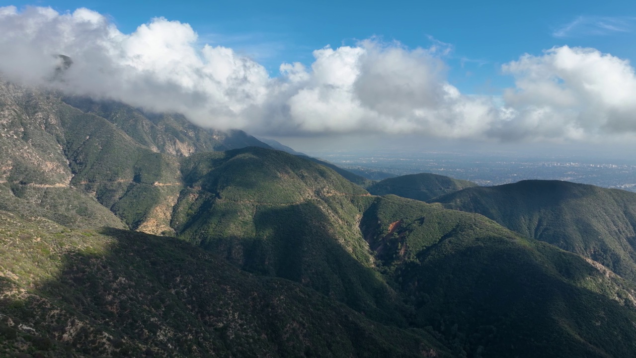
M197 43L188 24L153 18L124 34L85 8L0 8L0 72L69 94L115 99L255 134L421 133L438 138L568 141L636 134L636 76L593 48L555 47L502 66L504 96L462 94L446 54L375 38L314 51L270 76L232 48ZM62 54L73 64L59 71ZM56 75L56 68L58 73Z

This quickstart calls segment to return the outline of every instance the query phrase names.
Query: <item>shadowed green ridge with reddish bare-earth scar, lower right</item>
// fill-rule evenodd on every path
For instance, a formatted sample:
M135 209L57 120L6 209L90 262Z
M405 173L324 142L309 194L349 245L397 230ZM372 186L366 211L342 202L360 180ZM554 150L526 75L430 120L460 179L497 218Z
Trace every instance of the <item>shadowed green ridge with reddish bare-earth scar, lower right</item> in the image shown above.
M364 198L363 198L364 199ZM481 215L370 198L361 228L380 269L457 357L636 352L636 292L607 269Z

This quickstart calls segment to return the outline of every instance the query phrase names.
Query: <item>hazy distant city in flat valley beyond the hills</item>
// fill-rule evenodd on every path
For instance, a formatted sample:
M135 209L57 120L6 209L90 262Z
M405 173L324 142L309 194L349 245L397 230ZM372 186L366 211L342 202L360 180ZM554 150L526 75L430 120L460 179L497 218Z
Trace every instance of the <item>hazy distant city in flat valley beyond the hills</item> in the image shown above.
M347 169L392 175L435 173L501 185L526 179L565 180L636 192L636 159L509 152L312 152Z

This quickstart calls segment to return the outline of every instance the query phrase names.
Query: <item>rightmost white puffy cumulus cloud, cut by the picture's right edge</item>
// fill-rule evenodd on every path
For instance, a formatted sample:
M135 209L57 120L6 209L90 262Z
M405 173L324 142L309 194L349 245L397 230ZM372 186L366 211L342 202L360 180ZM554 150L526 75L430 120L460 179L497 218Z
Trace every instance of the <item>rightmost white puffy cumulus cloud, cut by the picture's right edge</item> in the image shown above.
M636 76L626 60L591 48L552 48L503 66L516 114L501 136L585 140L636 132Z

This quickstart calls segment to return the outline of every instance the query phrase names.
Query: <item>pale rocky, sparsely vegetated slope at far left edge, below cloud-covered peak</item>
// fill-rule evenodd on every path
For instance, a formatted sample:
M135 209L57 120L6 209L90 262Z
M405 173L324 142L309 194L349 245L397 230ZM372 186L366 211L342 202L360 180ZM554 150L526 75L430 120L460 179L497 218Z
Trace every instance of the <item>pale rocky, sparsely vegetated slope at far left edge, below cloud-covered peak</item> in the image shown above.
M0 210L71 227L122 227L94 197L71 185L56 103L37 89L0 78Z

